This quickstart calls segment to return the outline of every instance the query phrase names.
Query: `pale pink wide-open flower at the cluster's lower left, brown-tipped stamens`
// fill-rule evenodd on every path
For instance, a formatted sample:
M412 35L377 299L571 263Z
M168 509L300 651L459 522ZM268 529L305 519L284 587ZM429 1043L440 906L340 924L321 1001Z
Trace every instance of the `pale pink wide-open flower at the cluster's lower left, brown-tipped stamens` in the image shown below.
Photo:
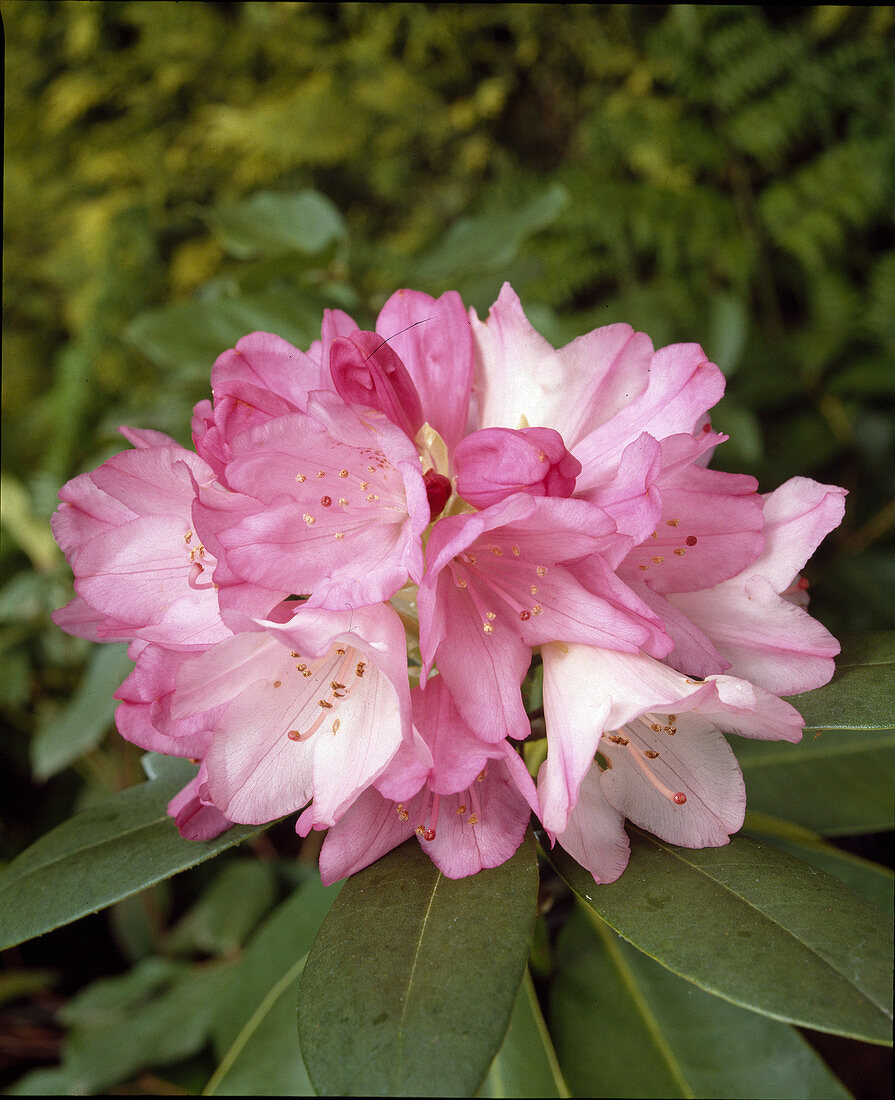
M172 716L221 708L198 793L230 821L262 824L313 800L325 827L410 738L404 629L383 604L291 606L185 661Z

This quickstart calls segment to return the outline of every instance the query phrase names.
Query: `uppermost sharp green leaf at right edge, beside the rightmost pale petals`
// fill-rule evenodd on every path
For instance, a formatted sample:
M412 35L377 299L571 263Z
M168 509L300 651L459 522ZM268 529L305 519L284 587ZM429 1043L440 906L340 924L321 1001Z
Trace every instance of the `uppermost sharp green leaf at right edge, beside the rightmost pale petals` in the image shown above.
M849 635L824 688L793 695L807 729L891 729L895 726L895 630Z

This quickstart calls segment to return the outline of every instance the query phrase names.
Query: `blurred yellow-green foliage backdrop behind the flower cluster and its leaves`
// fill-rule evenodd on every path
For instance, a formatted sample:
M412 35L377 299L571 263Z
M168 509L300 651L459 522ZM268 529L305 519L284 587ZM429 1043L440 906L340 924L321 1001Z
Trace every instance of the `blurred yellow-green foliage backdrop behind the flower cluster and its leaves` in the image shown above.
M658 346L699 341L729 378L716 465L763 491L805 474L850 492L808 571L814 613L836 632L895 628L892 8L0 12L0 857L140 778L106 736L120 653L48 618L70 595L47 527L59 485L121 449L120 424L186 442L217 352L252 328L307 346L324 305L364 323L398 286L454 287L484 315L508 278L555 343L615 320ZM302 208L318 240L290 246L277 218L272 240L241 233L241 202L307 189L331 204ZM269 836L267 908L298 873L289 828ZM11 954L9 1080L52 1064L57 1010L88 980L248 935L172 946L211 873ZM200 1046L180 1087L208 1076Z

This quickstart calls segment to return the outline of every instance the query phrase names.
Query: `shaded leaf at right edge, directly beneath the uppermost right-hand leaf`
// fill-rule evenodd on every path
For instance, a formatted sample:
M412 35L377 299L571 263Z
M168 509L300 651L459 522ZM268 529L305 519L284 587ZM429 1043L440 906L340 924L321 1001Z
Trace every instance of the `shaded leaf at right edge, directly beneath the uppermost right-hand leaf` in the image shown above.
M815 833L880 833L895 824L895 729L832 729L798 745L731 737L750 810Z

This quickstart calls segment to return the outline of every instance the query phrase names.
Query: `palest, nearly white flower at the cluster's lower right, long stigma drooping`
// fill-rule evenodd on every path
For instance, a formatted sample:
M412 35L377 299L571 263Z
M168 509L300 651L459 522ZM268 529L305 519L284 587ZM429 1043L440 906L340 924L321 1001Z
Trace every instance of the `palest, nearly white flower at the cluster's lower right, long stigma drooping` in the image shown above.
M694 680L649 657L587 646L542 652L541 821L597 881L625 868L626 817L692 848L727 844L740 828L745 791L722 733L802 736L794 707L744 680Z

